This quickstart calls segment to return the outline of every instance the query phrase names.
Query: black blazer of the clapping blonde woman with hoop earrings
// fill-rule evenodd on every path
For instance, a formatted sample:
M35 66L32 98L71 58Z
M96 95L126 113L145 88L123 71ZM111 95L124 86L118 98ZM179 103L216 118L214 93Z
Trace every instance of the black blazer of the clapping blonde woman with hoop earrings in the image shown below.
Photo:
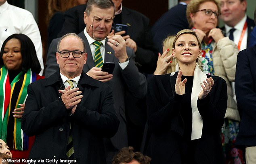
M174 96L177 74L153 76L148 83L148 125L152 131L149 156L152 164L182 164L179 148L183 142L184 124L179 111L183 102ZM218 76L207 77L213 78L214 86L206 98L197 100L203 132L195 146L195 160L197 164L223 164L220 129L227 109L227 84Z

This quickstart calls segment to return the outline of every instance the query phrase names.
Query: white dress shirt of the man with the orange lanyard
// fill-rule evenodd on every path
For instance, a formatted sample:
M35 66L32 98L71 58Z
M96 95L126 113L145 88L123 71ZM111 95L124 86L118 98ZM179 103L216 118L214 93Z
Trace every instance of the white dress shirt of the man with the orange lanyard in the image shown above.
M227 36L229 36L230 29L235 28L235 31L233 32L233 36L234 36L234 42L236 45L238 45L239 39L240 39L242 31L243 31L243 26L246 23L246 19L247 19L247 16L245 15L243 17L243 19L239 23L237 23L237 25L235 25L235 27L230 27L228 25L225 25L225 30L226 30ZM239 49L240 51L242 51L243 49L246 49L247 37L248 37L248 25L246 28L246 32L243 35L243 39L242 39L241 46Z

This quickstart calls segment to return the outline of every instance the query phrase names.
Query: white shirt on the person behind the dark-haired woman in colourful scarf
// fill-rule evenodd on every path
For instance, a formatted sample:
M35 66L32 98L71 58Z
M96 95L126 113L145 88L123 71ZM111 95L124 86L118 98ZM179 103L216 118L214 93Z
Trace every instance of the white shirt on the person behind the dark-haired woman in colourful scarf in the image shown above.
M44 71L43 49L40 31L31 12L8 4L6 1L0 6L0 48L7 37L15 33L27 35L34 43L41 72Z

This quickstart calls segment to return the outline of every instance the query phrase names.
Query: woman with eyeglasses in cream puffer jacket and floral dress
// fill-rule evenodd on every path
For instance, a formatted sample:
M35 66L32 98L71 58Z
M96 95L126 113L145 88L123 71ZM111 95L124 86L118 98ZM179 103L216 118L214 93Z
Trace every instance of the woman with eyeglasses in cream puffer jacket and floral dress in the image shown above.
M202 44L201 69L206 74L222 77L227 82L228 105L222 127L222 144L227 162L242 160L241 151L234 148L240 116L233 98L231 82L235 81L237 45L217 27L220 16L218 0L191 0L187 6L189 26ZM204 57L204 58L203 58ZM243 161L241 161L243 163Z

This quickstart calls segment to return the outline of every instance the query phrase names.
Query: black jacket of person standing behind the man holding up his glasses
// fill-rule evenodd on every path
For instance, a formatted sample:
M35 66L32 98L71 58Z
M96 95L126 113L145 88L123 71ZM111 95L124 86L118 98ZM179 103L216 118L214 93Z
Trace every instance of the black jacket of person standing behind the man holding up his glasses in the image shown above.
M59 33L59 37L65 35L66 33L80 33L84 30L84 11L86 5L75 6L65 12L65 23L63 28ZM136 65L140 72L147 74L153 74L156 68L157 62L157 48L154 46L152 34L149 28L149 18L145 15L126 8L122 8L122 22L128 25L128 35L137 44L136 51Z

